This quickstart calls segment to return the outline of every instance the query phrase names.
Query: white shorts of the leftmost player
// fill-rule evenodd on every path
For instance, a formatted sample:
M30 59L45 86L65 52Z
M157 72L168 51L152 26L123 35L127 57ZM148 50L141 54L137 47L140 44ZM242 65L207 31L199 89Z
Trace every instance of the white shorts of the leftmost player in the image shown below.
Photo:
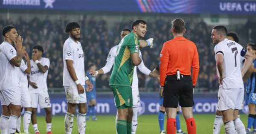
M0 91L1 105L21 105L20 95L20 87L18 86L14 86L12 89Z

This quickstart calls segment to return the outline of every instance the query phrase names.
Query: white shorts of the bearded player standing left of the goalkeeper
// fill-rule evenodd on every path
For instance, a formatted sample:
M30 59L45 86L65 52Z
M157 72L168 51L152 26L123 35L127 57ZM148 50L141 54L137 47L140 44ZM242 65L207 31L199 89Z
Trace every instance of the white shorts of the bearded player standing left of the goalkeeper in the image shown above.
M76 85L64 86L64 88L65 88L65 93L66 93L68 103L71 103L71 104L87 103L85 90L83 94L79 94Z

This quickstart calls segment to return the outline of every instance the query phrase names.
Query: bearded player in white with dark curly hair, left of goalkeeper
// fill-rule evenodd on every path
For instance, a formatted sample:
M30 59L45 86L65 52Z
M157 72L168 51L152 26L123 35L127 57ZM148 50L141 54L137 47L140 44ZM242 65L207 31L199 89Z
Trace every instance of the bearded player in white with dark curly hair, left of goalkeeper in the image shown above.
M78 106L77 124L79 134L85 133L87 101L84 85L87 84L87 91L91 91L93 85L85 77L84 73L84 51L80 39L80 26L76 22L67 23L66 33L70 37L63 46L63 86L67 96L67 112L65 116L66 134L72 133L74 114Z

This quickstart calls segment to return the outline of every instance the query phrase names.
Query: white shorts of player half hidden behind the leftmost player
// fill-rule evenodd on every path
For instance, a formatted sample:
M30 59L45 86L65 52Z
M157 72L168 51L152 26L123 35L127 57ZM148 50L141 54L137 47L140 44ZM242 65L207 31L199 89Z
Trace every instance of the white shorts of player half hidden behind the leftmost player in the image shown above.
M28 86L21 86L21 106L23 108L30 108L32 107L31 97Z

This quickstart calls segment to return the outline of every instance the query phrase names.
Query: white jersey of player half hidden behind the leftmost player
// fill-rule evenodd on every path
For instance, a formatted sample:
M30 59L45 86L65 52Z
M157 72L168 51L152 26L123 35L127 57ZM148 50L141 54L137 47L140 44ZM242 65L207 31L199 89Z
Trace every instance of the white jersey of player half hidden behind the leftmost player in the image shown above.
M28 66L26 66L23 59L21 59L20 67L17 68L17 74L20 78L20 87L28 86L28 79L26 77L26 73L24 72Z

